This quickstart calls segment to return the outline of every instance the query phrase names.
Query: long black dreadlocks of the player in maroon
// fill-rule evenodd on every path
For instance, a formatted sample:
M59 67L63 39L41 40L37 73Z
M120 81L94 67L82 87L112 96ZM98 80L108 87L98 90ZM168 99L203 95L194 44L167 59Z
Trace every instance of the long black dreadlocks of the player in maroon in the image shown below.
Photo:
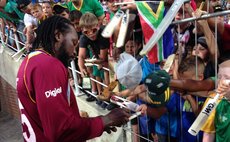
M56 32L65 34L70 30L70 21L60 16L51 16L44 20L36 30L36 38L32 44L32 51L43 48L46 52L54 55L54 44Z

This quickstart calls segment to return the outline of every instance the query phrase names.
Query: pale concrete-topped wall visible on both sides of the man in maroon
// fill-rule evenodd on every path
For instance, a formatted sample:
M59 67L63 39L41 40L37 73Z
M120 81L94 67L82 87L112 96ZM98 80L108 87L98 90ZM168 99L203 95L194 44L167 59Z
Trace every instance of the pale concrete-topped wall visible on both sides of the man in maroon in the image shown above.
M16 94L16 76L17 70L21 61L15 61L11 56L14 54L11 50L5 49L0 53L0 103L2 111L6 111L16 118L20 118L20 113L17 105ZM77 103L80 110L88 112L90 117L104 115L108 111L98 107L95 102L88 103L85 101L86 96L79 96ZM125 134L125 135L124 135ZM124 139L124 136L127 139ZM107 134L106 132L99 138L90 140L91 142L122 142L131 141L130 133L123 133L123 129L118 128L116 133Z

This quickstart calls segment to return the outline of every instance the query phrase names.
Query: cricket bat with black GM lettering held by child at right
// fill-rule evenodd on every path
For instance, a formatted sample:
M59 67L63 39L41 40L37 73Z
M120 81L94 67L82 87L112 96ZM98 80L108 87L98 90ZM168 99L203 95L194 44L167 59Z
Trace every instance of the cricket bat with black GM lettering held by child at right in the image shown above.
M226 80L226 84L230 84L230 80ZM193 122L192 126L188 130L191 135L196 136L199 133L200 129L205 124L212 111L217 107L219 103L219 98L220 94L217 93L214 98L210 99L206 103L206 105L203 107L200 114L197 116L196 120Z

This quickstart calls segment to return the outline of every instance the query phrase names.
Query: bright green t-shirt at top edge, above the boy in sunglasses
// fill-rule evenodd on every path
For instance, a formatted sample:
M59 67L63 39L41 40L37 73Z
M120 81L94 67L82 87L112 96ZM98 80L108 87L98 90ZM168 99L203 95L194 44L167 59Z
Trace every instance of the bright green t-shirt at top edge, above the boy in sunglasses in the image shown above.
M67 3L67 8L69 9L69 11L80 10L82 14L86 12L91 12L95 14L97 17L100 17L104 14L103 8L98 0L82 0L82 2L83 3L80 9L77 9L73 5L72 1Z

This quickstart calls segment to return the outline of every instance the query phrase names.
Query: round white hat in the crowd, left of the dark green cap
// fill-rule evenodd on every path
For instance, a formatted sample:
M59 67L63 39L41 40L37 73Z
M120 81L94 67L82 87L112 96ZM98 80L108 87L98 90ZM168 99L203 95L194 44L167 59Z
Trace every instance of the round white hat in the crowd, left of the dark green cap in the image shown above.
M139 62L130 54L120 54L115 69L118 81L126 88L134 88L141 82L142 69Z

